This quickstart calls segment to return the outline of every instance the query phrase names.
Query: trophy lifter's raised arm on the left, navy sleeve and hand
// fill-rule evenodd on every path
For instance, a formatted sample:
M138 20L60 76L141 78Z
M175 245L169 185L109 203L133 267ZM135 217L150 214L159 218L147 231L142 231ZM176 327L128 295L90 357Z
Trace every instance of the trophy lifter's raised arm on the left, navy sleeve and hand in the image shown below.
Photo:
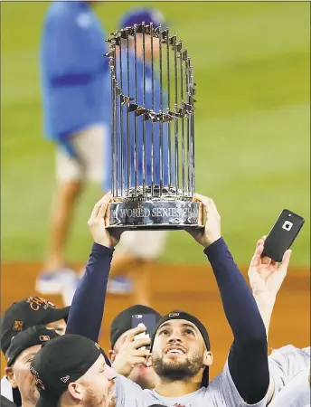
M85 273L73 297L66 334L86 336L99 340L101 320L105 307L108 274L114 247L121 232L109 233L105 227L108 203L106 194L95 204L88 222L94 243Z

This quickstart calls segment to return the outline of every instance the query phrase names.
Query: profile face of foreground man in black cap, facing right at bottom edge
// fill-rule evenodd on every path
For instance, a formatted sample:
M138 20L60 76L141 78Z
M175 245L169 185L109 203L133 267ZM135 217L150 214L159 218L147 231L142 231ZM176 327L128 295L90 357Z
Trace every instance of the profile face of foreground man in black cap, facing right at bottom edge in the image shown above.
M115 407L113 388L116 373L106 364L103 355L99 355L86 374L77 381L84 388L83 404L91 407Z

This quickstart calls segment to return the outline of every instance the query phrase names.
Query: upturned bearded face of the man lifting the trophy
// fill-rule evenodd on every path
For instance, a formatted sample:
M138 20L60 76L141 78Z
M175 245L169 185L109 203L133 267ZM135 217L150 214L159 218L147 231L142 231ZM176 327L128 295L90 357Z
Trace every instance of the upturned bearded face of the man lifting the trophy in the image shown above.
M155 373L170 381L184 380L203 374L212 364L199 329L184 319L165 322L156 332L152 350Z

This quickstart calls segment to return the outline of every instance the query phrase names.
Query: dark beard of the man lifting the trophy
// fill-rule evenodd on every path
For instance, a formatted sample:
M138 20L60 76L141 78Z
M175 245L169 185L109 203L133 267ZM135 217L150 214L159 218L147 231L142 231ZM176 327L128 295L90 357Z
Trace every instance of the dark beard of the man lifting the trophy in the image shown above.
M193 354L191 360L188 358L183 363L165 363L162 357L153 357L152 364L155 373L169 382L178 382L193 377L200 372L203 366L203 355Z

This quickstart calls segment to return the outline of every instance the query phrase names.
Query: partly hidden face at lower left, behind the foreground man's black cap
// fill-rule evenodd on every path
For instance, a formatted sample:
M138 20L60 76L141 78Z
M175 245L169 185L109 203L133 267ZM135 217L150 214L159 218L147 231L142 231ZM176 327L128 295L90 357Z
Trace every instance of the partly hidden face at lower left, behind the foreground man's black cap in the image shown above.
M18 387L23 401L32 402L33 405L39 399L39 393L35 388L33 376L30 373L30 364L41 349L41 345L34 345L25 349L16 360L12 367L5 369L5 374L9 378L12 387Z

